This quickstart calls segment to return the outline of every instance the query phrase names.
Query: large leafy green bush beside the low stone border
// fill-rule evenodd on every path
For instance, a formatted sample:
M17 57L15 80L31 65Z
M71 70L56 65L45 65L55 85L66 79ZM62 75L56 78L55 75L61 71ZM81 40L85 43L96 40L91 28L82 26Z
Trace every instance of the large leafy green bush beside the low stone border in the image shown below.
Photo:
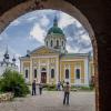
M14 97L24 97L30 92L22 75L11 70L6 70L0 79L0 91L12 92Z

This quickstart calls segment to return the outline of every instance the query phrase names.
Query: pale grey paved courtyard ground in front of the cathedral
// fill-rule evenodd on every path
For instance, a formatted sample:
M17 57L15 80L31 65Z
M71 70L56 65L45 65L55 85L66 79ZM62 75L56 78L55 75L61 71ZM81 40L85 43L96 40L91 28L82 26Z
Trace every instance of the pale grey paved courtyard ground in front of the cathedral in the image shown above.
M0 111L95 111L94 92L71 92L70 105L63 105L62 98L63 92L46 91L42 95L0 103Z

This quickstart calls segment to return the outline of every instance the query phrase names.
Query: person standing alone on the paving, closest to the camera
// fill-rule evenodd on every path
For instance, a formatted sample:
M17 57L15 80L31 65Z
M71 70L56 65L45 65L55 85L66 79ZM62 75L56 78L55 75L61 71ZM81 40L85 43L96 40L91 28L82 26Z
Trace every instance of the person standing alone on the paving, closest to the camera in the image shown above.
M63 87L64 91L64 98L63 98L63 104L69 104L69 95L70 95L70 84L67 82L67 84Z

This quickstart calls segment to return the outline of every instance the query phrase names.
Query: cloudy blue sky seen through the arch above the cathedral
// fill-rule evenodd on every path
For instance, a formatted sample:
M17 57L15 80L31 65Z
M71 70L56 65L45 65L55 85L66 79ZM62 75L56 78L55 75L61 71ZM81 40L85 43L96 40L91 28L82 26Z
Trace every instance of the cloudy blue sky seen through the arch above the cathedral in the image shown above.
M39 10L23 14L12 21L0 34L0 61L7 46L10 60L14 56L19 65L19 57L44 44L48 30L53 26L57 16L58 26L67 38L67 50L73 53L92 52L89 33L73 17L57 10Z

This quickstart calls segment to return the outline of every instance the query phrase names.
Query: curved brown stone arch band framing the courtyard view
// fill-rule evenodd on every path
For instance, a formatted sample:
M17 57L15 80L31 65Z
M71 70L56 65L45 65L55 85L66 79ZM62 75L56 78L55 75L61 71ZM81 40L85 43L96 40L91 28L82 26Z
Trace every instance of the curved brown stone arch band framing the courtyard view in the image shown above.
M61 3L60 3L61 2ZM93 53L94 53L94 68L95 68L95 88L97 88L97 111L99 110L99 83L98 83L98 47L97 47L97 38L94 36L93 29L89 22L89 20L71 3L64 0L28 0L23 3L20 3L12 9L8 10L0 17L0 32L4 30L4 28L10 24L11 21L17 19L18 17L39 9L54 9L61 10L72 17L74 17L89 32L90 39L93 46Z

